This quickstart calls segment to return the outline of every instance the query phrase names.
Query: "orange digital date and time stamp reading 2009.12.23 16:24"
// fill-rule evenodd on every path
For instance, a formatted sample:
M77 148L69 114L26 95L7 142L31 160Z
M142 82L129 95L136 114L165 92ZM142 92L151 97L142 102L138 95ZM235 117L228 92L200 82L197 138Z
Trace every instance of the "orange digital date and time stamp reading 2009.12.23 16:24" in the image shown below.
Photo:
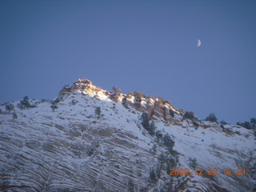
M218 174L224 174L224 175L245 175L246 169L194 169L195 175L218 175ZM188 175L192 174L190 173L189 169L170 169L170 175Z

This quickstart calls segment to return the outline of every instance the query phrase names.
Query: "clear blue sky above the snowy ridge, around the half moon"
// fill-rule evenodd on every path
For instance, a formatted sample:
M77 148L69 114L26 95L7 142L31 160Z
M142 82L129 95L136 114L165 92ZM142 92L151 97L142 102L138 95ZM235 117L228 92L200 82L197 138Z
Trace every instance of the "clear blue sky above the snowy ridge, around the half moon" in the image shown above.
M256 1L0 1L0 103L88 78L230 123L256 118ZM197 46L197 39L202 42Z

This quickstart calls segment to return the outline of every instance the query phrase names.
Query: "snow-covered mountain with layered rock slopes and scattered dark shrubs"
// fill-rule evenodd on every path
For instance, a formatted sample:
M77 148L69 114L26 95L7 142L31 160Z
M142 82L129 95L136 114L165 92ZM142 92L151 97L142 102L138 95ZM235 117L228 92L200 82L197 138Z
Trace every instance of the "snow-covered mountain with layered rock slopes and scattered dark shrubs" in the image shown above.
M253 191L255 136L78 79L0 106L1 191Z

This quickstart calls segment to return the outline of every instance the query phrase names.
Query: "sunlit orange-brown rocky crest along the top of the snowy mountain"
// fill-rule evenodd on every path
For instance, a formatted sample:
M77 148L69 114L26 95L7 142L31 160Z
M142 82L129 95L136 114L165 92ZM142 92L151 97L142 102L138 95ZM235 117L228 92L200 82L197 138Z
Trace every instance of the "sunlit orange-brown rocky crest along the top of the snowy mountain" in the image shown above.
M178 110L170 104L170 102L164 102L162 98L157 97L138 97L132 94L124 94L122 92L112 92L103 90L98 86L94 86L93 83L86 78L79 78L77 82L74 82L72 86L65 86L60 91L59 96L69 94L72 92L80 92L90 97L100 98L104 100L111 100L113 102L122 102L126 107L133 107L141 112L146 112L150 119L162 118L166 122L178 123L177 119L181 118L181 114ZM170 110L174 112L174 118L170 114Z

